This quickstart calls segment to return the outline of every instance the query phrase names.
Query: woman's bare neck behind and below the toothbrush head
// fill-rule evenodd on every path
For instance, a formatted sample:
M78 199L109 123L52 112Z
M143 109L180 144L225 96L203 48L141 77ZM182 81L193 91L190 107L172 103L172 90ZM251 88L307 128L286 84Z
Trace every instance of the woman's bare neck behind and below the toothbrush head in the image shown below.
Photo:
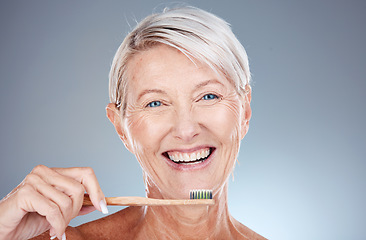
M163 198L149 189L148 197ZM149 239L230 239L235 229L227 205L227 184L213 206L145 207L141 237Z

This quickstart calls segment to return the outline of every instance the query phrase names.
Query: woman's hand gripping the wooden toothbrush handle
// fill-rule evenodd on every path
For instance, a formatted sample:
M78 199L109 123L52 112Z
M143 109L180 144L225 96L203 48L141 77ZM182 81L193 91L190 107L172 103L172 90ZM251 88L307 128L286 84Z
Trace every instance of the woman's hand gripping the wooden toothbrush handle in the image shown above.
M82 207L85 191L94 206ZM0 201L0 240L28 239L48 229L64 239L71 219L95 209L107 212L93 169L39 165Z

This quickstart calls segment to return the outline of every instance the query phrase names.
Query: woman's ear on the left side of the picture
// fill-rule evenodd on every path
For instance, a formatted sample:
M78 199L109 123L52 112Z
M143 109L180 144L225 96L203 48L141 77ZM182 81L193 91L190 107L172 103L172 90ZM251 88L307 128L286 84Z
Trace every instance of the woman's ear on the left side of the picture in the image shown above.
M119 138L122 140L125 147L133 153L129 140L127 138L126 129L124 128L124 124L122 123L122 117L120 110L116 107L116 104L109 103L106 107L107 117L109 121L114 125L116 132Z

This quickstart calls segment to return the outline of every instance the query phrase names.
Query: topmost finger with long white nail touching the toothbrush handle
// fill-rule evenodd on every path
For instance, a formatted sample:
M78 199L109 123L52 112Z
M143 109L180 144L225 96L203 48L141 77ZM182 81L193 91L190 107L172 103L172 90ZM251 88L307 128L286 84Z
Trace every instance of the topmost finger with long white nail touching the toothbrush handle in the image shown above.
M92 168L53 168L53 170L60 173L61 175L68 176L80 182L88 192L94 207L103 213L108 211L105 205L104 193L99 186L97 177L95 176L94 170Z

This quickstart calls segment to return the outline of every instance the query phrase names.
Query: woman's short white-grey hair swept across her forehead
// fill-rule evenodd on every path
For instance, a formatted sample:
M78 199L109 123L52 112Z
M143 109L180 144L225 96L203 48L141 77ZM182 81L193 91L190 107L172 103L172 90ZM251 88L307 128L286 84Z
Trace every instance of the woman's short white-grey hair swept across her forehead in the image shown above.
M227 22L194 7L164 10L142 20L126 36L114 56L109 73L109 98L121 107L123 116L128 60L156 44L178 49L193 63L207 64L232 81L239 94L250 89L248 56Z

